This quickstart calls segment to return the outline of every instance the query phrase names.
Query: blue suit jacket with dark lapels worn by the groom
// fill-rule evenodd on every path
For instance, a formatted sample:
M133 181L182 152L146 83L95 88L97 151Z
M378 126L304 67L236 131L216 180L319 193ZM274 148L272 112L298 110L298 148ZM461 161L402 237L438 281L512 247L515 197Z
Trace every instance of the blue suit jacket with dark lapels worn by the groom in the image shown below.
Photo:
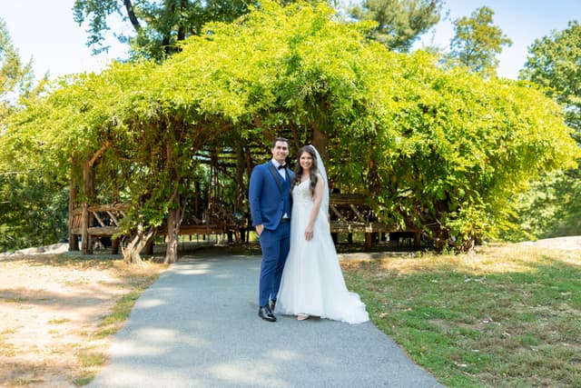
M285 174L287 178L283 181L271 161L259 164L252 170L248 194L252 226L264 224L264 228L275 230L281 223L285 204L291 216L291 181L294 174L289 168L285 168Z

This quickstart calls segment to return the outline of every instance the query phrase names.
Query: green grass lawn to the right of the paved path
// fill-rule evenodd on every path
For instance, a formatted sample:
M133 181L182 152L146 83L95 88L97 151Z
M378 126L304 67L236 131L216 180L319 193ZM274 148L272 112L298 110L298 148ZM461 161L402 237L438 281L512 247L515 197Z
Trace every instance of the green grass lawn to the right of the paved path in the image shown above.
M373 322L449 387L581 387L581 253L522 244L341 263Z

